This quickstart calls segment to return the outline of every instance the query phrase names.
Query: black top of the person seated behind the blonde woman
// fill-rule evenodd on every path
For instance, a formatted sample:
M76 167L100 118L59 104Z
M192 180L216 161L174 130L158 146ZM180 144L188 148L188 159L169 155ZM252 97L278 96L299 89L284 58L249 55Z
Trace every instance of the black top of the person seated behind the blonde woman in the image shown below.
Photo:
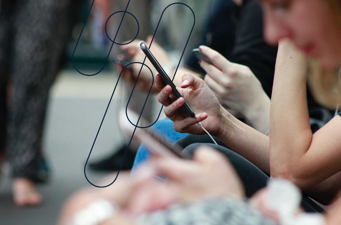
M244 0L239 7L231 0L214 0L205 33L197 46L207 45L231 62L248 66L271 98L277 47L267 45L264 40L262 8L258 3ZM205 74L197 61L192 54L187 65ZM321 107L308 86L307 100L309 110ZM333 115L333 112L330 113Z

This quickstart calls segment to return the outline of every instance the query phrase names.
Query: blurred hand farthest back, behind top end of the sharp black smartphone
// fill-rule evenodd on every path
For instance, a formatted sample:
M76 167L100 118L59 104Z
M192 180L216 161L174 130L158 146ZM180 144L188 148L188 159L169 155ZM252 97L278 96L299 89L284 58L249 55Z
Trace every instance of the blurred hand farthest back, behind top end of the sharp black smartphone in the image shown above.
M152 36L147 37L147 40L146 40L147 46L150 45L151 39L152 39ZM134 40L130 44L122 45L120 47L121 50L127 51L128 54L132 56L132 62L142 63L146 57L146 55L140 49L140 46L139 46L140 42L142 42L142 40ZM157 44L157 42L155 42L155 40L153 40L153 43L151 45L150 50L153 53L153 55L155 56L155 58L157 58L157 60L161 66L166 66L166 65L169 65L171 63L169 58L168 58L167 52L165 50L163 50ZM153 75L155 76L155 74L157 74L157 71L155 70L153 65L150 63L148 58L146 59L145 64L151 69L151 71L153 72ZM132 64L133 72L131 73L131 75L132 75L133 79L136 80L136 77L138 76L138 73L141 69L141 66L142 66L142 64L138 64L138 63ZM127 74L124 74L124 76L126 76L126 75ZM173 74L168 74L168 75L171 76L171 78L173 78ZM155 77L154 77L154 79L155 79ZM135 80L133 81L133 83L135 83ZM143 82L144 84L146 84L146 86L148 86L148 90L149 90L150 85L152 84L152 75L150 74L150 70L148 68L146 68L145 66L142 68L141 73L138 77L138 82L140 82L140 81ZM153 89L153 91L154 90L155 89Z

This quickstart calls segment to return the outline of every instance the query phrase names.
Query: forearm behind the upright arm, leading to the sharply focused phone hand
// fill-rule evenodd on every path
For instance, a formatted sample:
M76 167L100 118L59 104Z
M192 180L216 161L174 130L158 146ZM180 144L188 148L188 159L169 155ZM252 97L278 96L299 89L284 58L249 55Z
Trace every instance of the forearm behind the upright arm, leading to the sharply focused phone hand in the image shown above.
M221 131L217 137L234 152L270 174L269 137L229 114L222 106Z

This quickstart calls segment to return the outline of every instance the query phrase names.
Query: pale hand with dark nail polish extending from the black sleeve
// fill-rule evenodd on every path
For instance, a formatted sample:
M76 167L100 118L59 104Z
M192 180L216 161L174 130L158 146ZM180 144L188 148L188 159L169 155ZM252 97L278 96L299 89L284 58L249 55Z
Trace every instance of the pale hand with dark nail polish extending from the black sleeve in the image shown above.
M243 115L254 105L259 105L259 101L263 100L266 94L261 82L249 67L231 63L209 47L200 46L199 49L215 65L205 60L200 62L200 66L207 73L205 83L217 96L220 104L238 110Z

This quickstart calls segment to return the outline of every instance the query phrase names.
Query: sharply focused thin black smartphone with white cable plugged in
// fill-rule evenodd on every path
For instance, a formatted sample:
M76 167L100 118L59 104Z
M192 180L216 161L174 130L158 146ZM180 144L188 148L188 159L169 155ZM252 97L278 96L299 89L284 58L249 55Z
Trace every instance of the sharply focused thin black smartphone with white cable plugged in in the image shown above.
M181 94L180 92L176 89L176 86L174 85L174 83L172 82L172 80L170 80L169 76L166 74L166 72L163 70L163 68L161 67L161 65L159 64L158 60L156 60L156 58L153 56L153 54L150 52L149 48L146 46L146 44L144 42L141 42L140 44L140 48L142 49L142 51L145 53L145 55L147 56L147 58L149 59L149 61L151 62L151 64L154 66L154 68L156 69L156 71L158 71L158 73L160 74L160 76L162 77L162 80L169 85L170 87L172 87L172 92L175 95L175 97L177 99L181 98ZM185 103L182 106L187 114L191 117L194 118L195 114L193 112L193 110L191 109L191 107L188 105L188 103L186 102L185 99Z

